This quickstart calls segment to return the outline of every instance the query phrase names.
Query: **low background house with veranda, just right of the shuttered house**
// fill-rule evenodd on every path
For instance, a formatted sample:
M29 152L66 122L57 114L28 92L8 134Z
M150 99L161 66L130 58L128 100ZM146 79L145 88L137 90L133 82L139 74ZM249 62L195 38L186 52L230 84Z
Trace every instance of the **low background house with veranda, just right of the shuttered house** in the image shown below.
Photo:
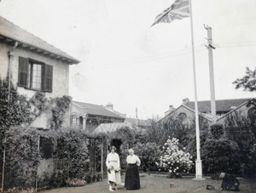
M91 133L102 123L125 122L125 117L113 111L113 105L94 105L78 101L71 104L71 127Z

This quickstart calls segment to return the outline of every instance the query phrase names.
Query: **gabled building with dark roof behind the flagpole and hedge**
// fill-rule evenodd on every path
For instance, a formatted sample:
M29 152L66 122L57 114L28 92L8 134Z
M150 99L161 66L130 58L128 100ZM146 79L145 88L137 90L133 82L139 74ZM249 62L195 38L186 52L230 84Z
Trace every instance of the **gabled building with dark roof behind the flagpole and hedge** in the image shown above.
M253 99L218 99L216 100L216 123L224 124L225 118L231 113L240 112L247 116L248 113L255 113L255 106L247 106ZM211 100L198 101L199 114L209 123L212 122L211 114ZM169 110L166 111L166 115L160 120L163 122L169 117L177 117L182 119L183 122L191 122L195 117L195 102L189 101L189 99L183 99L182 105L174 108L169 106Z

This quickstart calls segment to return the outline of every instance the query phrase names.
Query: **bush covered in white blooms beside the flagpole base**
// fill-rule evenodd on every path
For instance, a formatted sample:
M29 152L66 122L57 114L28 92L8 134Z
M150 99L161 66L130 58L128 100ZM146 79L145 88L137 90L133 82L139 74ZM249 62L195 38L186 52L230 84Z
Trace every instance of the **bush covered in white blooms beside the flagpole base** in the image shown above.
M193 166L192 156L178 148L178 139L167 139L162 147L160 162L156 163L160 170L168 171L170 174L189 173Z

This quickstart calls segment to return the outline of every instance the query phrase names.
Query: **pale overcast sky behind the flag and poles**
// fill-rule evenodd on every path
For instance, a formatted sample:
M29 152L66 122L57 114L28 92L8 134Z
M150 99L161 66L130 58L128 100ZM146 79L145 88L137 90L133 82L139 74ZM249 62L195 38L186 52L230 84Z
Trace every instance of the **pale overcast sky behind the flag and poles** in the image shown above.
M256 66L256 1L194 0L190 18L160 23L174 0L1 0L0 15L80 60L70 66L73 100L113 104L140 119L182 100L210 100L207 30L212 27L215 99L255 97L235 89ZM195 48L193 74L192 36ZM196 92L195 92L196 86ZM136 114L137 109L137 114Z

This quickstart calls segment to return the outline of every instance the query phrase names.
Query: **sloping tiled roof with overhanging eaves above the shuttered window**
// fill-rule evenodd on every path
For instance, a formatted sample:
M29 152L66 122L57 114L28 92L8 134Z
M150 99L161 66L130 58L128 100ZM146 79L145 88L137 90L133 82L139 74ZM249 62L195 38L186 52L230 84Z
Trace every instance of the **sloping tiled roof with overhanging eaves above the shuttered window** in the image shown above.
M0 16L0 36L17 41L24 47L31 47L38 50L38 52L49 52L55 54L57 57L64 58L72 64L79 64L79 60L74 59L72 56L66 54L58 48L46 43L39 37L34 36L32 33L23 30L19 26L9 20Z

